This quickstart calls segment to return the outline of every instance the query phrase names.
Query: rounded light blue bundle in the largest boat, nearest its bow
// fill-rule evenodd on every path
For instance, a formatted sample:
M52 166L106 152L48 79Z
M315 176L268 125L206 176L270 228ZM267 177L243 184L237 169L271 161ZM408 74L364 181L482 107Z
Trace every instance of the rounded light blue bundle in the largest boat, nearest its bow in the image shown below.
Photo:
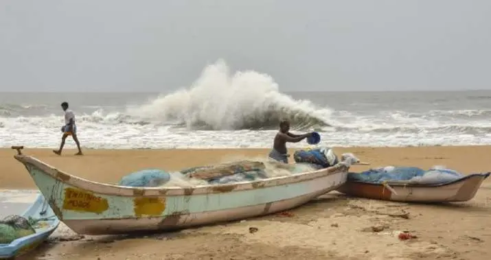
M117 185L128 187L158 187L170 180L170 174L161 169L143 169L128 174Z

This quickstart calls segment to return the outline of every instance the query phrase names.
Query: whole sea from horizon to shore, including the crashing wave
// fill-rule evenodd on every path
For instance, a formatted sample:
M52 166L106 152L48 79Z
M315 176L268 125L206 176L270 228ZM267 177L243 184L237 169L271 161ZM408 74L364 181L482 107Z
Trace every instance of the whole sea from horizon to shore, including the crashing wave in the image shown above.
M174 92L0 93L0 147L57 147L63 101L91 148L271 147L282 118L330 146L491 144L491 91L284 93L218 62Z

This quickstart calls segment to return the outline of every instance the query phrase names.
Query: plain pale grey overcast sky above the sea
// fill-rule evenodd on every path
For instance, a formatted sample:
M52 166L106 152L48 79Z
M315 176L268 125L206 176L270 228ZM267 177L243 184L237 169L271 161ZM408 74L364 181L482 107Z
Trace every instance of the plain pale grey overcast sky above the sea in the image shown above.
M207 63L282 91L491 89L489 0L3 0L0 91L162 91Z

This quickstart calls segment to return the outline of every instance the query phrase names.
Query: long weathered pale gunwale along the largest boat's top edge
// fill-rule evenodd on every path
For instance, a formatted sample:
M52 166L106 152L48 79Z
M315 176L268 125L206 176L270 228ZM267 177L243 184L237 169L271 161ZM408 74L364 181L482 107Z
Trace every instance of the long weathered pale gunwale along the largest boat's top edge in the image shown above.
M16 154L14 156L17 161L27 165L32 165L46 174L50 178L56 181L63 182L72 187L78 189L84 189L93 193L98 193L106 196L148 196L148 197L161 197L161 196L191 196L191 195L207 195L211 193L227 193L231 191L247 191L253 189L260 189L266 187L275 187L281 185L291 185L298 182L306 182L308 180L322 178L324 176L330 176L334 174L347 174L350 166L344 164L337 164L332 167L319 169L312 172L304 172L295 174L293 176L278 176L268 178L265 180L253 180L247 182L235 182L233 184L220 184L220 185L197 185L192 187L128 187L111 185L102 182L95 182L93 180L87 180L78 176L73 176L62 172L56 167L44 163L43 161L35 158L34 156ZM29 169L28 169L29 170ZM30 173L32 174L32 173ZM326 186L330 184L326 183Z

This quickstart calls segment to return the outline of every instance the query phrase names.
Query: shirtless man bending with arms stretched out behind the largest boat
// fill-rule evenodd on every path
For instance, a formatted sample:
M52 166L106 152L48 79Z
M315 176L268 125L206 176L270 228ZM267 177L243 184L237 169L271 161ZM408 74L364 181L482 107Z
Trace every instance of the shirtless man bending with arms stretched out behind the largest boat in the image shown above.
M286 150L286 142L298 143L312 135L307 134L292 134L290 131L290 122L288 120L282 120L279 122L279 131L275 136L273 143L273 150L269 153L269 158L282 163L288 163L288 152Z

